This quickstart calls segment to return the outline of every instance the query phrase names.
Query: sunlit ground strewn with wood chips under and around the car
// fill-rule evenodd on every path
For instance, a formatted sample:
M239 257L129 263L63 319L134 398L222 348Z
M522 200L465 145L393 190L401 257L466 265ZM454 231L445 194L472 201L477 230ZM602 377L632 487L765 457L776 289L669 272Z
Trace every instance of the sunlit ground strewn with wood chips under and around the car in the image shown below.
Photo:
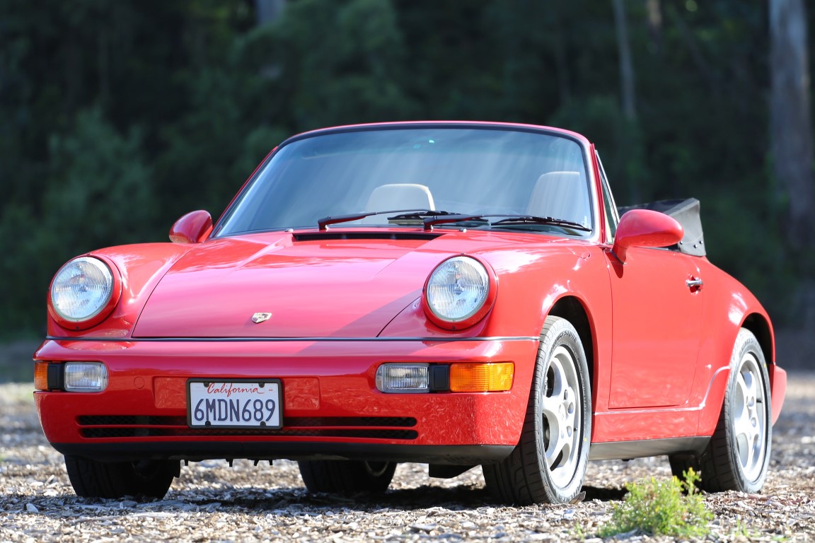
M623 485L667 478L666 458L592 462L584 501L507 507L491 502L480 469L431 480L403 464L384 497L312 496L293 462L212 461L183 467L164 500L88 500L68 483L42 436L31 385L0 385L0 543L5 541L601 541ZM761 494L705 497L707 541L815 541L815 374L793 373L774 428ZM623 541L673 541L633 533Z

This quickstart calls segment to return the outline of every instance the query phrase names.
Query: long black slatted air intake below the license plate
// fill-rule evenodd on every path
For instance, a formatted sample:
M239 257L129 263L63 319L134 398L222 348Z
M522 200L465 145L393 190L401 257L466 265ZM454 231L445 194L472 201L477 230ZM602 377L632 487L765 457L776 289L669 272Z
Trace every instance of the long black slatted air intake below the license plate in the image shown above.
M280 430L263 428L191 428L183 417L83 416L77 419L87 439L128 437L290 436L360 437L415 440L416 418L411 417L289 417Z

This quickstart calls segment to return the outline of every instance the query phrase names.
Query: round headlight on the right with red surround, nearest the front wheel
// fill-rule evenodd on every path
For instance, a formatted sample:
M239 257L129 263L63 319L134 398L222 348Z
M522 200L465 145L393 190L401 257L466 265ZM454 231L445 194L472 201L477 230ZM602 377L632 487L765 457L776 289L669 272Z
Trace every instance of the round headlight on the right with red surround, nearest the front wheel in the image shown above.
M455 330L482 319L495 300L496 282L481 262L469 256L443 261L425 284L425 313L430 320Z

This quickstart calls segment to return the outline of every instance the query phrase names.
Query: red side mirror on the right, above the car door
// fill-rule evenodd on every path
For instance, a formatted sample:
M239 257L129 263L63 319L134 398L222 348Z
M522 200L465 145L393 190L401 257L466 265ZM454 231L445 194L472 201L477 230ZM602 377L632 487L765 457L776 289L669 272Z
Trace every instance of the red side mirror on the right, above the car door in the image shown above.
M625 264L628 247L667 247L684 236L675 218L650 209L632 209L619 220L611 252Z

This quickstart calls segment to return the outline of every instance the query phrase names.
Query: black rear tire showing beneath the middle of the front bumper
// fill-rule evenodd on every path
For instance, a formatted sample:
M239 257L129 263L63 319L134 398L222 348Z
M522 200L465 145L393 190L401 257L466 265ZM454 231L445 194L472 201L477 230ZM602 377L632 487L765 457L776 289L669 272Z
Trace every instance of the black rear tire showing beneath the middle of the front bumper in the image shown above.
M309 492L381 494L394 478L396 462L301 460L300 476Z

